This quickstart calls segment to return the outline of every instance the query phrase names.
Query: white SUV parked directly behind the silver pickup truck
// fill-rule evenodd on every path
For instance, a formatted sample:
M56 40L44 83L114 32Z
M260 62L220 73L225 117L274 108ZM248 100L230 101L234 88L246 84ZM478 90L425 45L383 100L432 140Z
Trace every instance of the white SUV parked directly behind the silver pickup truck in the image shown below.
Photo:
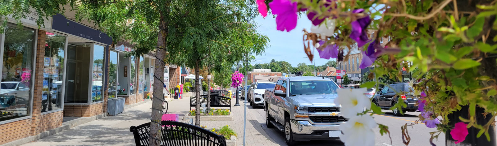
M255 108L256 106L264 105L264 98L262 95L264 91L268 88L274 88L276 83L274 82L255 82L253 86L250 86L247 101L250 102L250 106Z

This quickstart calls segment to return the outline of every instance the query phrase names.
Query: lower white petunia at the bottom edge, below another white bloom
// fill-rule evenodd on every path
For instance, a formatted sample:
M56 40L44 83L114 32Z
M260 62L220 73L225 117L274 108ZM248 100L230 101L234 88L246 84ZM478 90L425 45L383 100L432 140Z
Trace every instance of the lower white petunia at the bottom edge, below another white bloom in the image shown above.
M375 134L372 129L377 126L370 115L354 116L340 125L339 129L343 133L340 141L345 146L374 146Z

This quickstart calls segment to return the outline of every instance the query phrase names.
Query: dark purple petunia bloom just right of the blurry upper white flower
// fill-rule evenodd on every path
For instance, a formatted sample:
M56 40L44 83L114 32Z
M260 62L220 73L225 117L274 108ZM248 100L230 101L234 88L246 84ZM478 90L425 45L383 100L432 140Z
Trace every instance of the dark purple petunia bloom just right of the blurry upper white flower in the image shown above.
M352 13L362 13L364 12L364 9L356 9L353 10ZM364 44L370 42L371 40L368 39L368 34L367 34L367 27L369 24L371 24L371 18L369 18L369 15L357 19L355 21L352 21L352 32L350 33L350 39L355 40L357 42L357 47L362 47Z

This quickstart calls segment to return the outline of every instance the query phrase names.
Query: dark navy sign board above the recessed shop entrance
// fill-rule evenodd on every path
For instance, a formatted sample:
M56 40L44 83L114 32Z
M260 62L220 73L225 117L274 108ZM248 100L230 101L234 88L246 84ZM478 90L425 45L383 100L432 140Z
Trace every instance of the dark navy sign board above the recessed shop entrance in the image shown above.
M87 27L78 22L66 19L66 17L61 14L56 14L53 16L52 29L69 33L71 35L82 37L84 39L92 40L95 42L104 43L106 45L112 44L112 38L110 38L107 34L99 30L95 30L91 27Z

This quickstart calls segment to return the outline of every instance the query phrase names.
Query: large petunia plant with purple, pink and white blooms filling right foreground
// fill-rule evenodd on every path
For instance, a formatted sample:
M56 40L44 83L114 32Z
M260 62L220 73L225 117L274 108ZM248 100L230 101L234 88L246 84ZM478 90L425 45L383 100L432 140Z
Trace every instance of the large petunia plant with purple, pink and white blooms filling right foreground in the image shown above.
M359 67L373 66L369 79L376 79L362 87L388 86L378 78L403 81L403 69L411 72L411 83L416 84L405 92L419 98L418 121L435 130L430 132L430 143L443 132L450 132L457 141L454 143L463 142L468 128L479 130L468 135L471 139L485 136L490 141L489 128L495 125L497 111L497 0L263 1L257 0L259 12L266 16L268 5L280 31L293 30L297 14L307 13L312 26L310 32L304 30L303 41L311 61L314 49L321 58L337 58L339 62L348 60L349 54L343 50L350 53L358 48L362 55ZM381 44L386 38L388 42ZM374 146L374 142L356 142L352 137L374 138L370 130L376 126L380 134L388 133L388 127L374 124L366 114L381 113L381 108L367 105L367 98L347 90L339 91L335 99L342 105L342 114L350 118L340 139L346 146ZM406 104L399 100L391 109L402 113ZM477 123L476 119L484 119L477 117L483 116L491 118ZM418 121L402 126L406 137L407 127ZM409 142L403 137L404 144Z

